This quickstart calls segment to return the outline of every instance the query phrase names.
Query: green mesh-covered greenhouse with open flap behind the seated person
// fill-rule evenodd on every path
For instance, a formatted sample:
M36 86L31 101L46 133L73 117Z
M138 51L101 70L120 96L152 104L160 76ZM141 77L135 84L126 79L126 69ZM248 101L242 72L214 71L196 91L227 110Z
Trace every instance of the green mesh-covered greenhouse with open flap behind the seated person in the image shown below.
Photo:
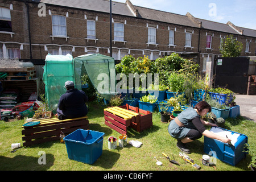
M88 54L73 57L71 55L47 55L43 67L45 96L49 109L56 113L60 96L66 92L65 82L74 81L81 89L81 76L88 74L94 88L104 98L110 100L115 93L115 64L113 57L101 54Z

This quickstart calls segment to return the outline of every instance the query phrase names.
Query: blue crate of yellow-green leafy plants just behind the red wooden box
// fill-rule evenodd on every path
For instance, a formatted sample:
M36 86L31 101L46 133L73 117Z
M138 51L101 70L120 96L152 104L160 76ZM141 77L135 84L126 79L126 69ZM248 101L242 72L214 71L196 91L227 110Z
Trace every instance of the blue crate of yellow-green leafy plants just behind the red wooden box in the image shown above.
M155 104L157 101L158 100L155 96L151 96L150 94L148 94L147 96L143 96L139 99L139 108L151 111L152 113L155 109Z

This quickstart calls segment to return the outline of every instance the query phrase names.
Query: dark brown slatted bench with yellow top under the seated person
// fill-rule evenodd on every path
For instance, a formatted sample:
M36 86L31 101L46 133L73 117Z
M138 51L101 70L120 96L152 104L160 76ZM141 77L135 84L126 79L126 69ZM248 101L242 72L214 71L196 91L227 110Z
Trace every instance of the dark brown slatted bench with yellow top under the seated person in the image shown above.
M23 127L23 146L38 144L60 139L60 131L66 135L77 129L89 129L88 117L59 120L58 118L33 119L40 121L39 125Z

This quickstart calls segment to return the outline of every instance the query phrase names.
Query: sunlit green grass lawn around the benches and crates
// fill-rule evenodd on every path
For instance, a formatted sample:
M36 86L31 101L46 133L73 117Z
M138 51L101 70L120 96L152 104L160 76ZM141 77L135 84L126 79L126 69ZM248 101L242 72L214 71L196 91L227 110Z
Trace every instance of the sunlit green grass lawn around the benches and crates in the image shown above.
M108 149L108 138L110 136L119 137L117 133L106 126L104 123L103 109L105 107L96 102L89 103L89 127L90 130L101 131L105 133L103 140L102 155L92 164L85 164L68 159L65 144L59 140L46 142L42 144L34 144L30 147L21 147L16 152L11 153L12 143L21 143L22 145L22 125L24 120L15 120L10 122L0 121L0 170L85 170L85 171L190 171L197 170L189 163L179 157L180 150L176 147L176 140L168 134L168 123L160 122L160 114L153 113L153 126L151 129L144 130L142 133L137 133L133 129L129 129L127 142L130 140L139 140L142 146L135 148L127 144L125 148L117 148L115 150ZM249 144L255 144L255 126L253 121L247 121L242 117L236 119L227 119L225 128L247 135ZM209 128L208 128L209 129ZM203 166L201 163L204 155L204 137L189 143L192 154L189 157L195 160L196 164L201 166L200 171L245 171L250 170L248 164L251 160L250 155L241 160L236 166L230 166L227 163L217 159L216 169L209 166ZM46 164L39 164L40 151L46 154ZM172 164L166 159L162 152L166 153L172 159L174 155L180 166ZM158 159L163 163L162 166L156 165Z

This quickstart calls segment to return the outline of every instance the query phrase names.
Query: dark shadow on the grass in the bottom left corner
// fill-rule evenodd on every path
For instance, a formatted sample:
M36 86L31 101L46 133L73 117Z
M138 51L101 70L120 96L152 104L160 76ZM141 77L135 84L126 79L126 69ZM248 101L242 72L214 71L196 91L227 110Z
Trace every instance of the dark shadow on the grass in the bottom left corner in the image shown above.
M53 166L54 156L46 154L46 164L39 164L43 160L32 156L16 155L14 158L0 156L1 171L45 171Z

